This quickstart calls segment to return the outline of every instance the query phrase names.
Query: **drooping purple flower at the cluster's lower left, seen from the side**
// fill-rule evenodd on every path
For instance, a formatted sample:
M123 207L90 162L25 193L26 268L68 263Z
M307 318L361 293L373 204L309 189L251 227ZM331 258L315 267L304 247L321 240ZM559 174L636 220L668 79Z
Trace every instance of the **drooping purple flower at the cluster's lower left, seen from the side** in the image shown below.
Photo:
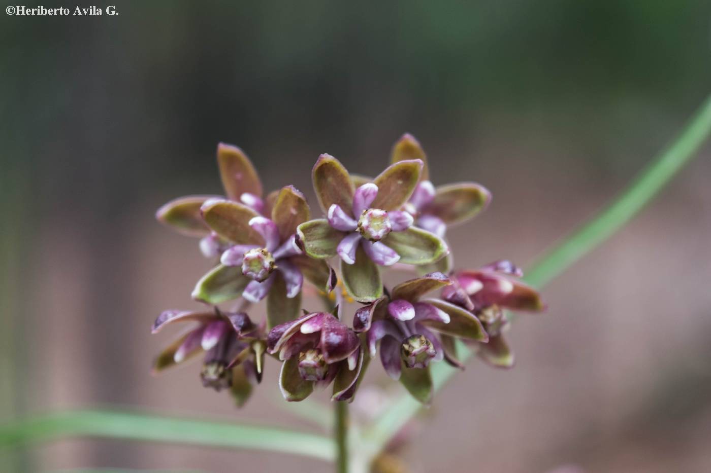
M203 386L221 391L228 388L238 405L262 381L266 341L260 327L243 313L166 310L154 322L157 333L174 322L197 322L167 347L154 362L154 372L180 364L197 354L205 354L200 377Z

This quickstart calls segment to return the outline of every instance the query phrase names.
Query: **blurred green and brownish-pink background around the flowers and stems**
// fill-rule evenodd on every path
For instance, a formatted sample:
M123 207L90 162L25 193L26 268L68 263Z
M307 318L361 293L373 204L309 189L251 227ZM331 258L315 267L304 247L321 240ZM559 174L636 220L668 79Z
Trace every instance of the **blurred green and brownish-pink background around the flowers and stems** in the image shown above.
M1 16L2 422L138 406L318 431L284 410L276 363L239 411L201 387L197 364L150 374L175 335L151 337L154 317L196 307L210 266L154 212L221 192L218 141L242 147L268 190L294 183L314 202L319 153L373 175L409 131L435 184L493 192L449 232L458 266L525 267L710 91L707 0L383 3L113 1L118 16ZM711 148L701 153L545 288L546 315L519 317L515 369L473 360L438 393L397 451L409 471L711 471ZM369 384L392 392L364 398L402 392L383 376L373 364ZM0 452L4 472L91 467L331 471L109 440Z

